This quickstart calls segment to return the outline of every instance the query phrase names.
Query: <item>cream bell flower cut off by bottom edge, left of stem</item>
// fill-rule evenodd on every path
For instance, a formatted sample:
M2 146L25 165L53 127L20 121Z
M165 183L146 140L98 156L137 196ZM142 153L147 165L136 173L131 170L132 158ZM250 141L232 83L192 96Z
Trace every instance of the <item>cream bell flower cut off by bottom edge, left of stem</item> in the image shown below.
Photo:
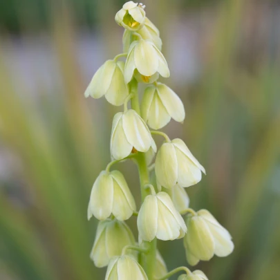
M142 266L129 255L115 256L109 262L105 280L148 280Z

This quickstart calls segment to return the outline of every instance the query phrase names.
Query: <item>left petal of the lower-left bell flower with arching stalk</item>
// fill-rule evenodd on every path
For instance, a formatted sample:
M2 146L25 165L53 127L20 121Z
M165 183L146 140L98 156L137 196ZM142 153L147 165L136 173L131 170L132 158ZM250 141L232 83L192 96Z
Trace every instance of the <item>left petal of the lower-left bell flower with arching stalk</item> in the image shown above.
M88 219L93 214L98 220L105 220L111 215L112 206L113 180L106 171L102 171L95 180L91 190L91 198L88 204Z

